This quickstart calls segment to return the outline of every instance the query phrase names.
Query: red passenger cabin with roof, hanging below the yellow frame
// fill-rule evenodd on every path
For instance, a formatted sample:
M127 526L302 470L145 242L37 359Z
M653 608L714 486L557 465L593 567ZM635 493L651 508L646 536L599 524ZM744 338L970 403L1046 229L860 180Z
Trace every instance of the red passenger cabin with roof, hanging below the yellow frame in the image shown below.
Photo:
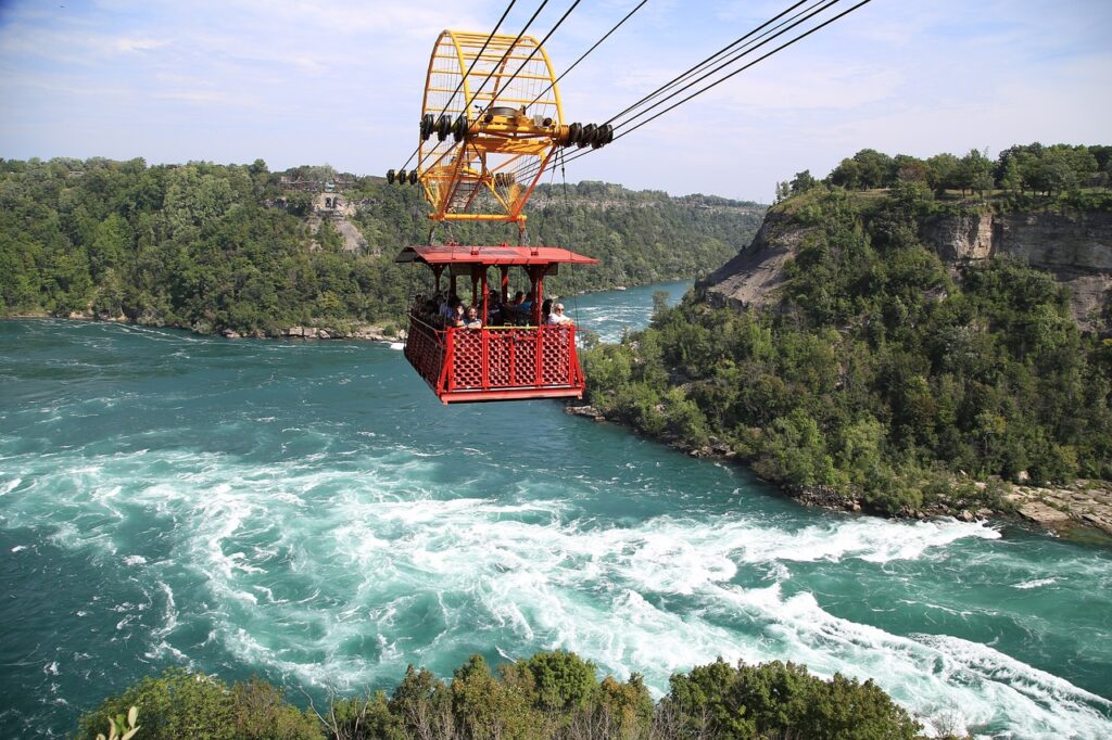
M415 306L409 312L406 359L444 403L508 401L533 398L583 398L583 370L575 351L575 326L542 324L545 276L560 263L596 264L598 260L555 247L407 247L396 262L424 262L440 278L471 283L471 303L479 309L481 329L439 326ZM519 266L533 287L527 326L488 326L492 292L509 303L509 268ZM487 272L498 268L498 284L488 286Z

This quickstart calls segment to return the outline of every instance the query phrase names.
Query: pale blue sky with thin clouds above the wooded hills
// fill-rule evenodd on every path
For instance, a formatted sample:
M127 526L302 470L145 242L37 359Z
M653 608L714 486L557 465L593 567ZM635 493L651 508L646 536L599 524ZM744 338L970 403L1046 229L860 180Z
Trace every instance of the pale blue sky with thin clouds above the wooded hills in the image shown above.
M537 3L519 1L505 28ZM381 174L416 147L439 32L488 31L506 4L0 0L0 157ZM568 4L549 2L530 32ZM557 71L635 4L582 2L546 44ZM565 114L606 120L788 4L649 0L560 83ZM874 0L567 177L767 202L777 180L866 147L1112 143L1110 90L1112 3Z

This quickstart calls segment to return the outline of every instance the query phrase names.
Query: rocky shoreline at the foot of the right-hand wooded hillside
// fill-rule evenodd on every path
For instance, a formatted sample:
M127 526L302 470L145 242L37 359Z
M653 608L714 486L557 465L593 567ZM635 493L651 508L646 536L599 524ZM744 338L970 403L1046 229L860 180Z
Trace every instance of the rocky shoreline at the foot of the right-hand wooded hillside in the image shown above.
M609 421L598 409L589 404L569 403L564 407L564 411L596 422ZM639 429L631 429L637 433L645 433ZM676 438L657 439L694 458L738 462L737 454L727 444L712 443L696 448ZM920 509L905 509L897 514L870 507L860 498L844 496L830 486L795 487L775 482L773 484L785 496L804 506L832 511L896 519L953 517L961 521L1021 520L1056 536L1112 546L1112 482L1110 481L1082 479L1070 486L1054 488L1014 486L999 480L975 481L973 490L979 493L983 493L990 486L996 488L1001 506L984 506L983 500L973 496L956 498L952 503L934 500ZM954 480L955 488L961 484L961 480Z

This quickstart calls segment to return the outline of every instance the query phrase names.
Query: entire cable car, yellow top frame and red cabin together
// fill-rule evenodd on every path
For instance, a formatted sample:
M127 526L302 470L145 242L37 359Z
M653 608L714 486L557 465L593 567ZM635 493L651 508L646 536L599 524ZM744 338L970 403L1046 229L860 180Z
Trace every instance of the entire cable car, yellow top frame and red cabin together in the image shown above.
M532 37L441 32L425 82L419 159L413 170L390 170L387 180L406 184L416 178L434 222L516 223L523 241L523 209L557 149L597 148L613 138L606 126L565 124L556 81L548 54ZM455 326L425 310L425 297L410 307L405 356L441 402L583 398L576 328L546 323L544 279L563 263L597 260L555 247L449 243L408 247L395 261L427 266L434 294L445 300L457 294L458 278L470 280L481 328ZM492 296L508 304L512 267L525 272L532 308L514 326L492 326ZM492 269L498 271L496 284L488 283ZM441 284L445 276L450 287Z

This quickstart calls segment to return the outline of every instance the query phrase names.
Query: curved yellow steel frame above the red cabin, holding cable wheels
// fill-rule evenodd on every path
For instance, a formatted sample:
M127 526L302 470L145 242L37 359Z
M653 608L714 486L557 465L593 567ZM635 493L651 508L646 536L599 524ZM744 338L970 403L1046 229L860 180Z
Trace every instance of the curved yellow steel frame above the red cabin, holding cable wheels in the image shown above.
M445 114L453 113L454 121L456 114L471 110L477 103L484 111L493 103L516 104L522 107L522 112L514 116L493 116L490 121L469 121L468 134L461 142L454 142L450 134L443 142L433 137L420 140L418 151L421 166L418 168L417 177L425 198L433 204L429 218L434 220L505 221L516 222L524 228L526 216L522 211L525 203L552 160L558 134L566 130L563 104L552 61L534 38L517 39L514 36L496 34L490 37L489 42L487 38L486 33L467 31L448 30L440 33L428 63L421 116L431 113L434 117L439 117L444 111ZM485 43L486 50L479 57L478 51ZM467 70L476 58L478 58L477 69L471 71L471 77L485 79L487 71L490 71L493 89L488 82L483 90L471 91ZM512 73L507 70L507 67L510 67L509 62L518 62L512 66L514 71L517 71L526 60L539 61L547 73L543 74L536 69L530 69L532 73L515 74L508 82L522 80L537 82L543 87L552 86L550 91L537 100L538 107L554 113L546 116L552 119L549 126L538 124L525 113L525 106L534 102L532 98L499 96L499 90L508 89L504 84L508 84L505 78ZM484 63L486 67L481 72L478 71ZM456 64L458 69L455 69ZM494 69L490 69L492 67ZM447 82L450 87L445 87L445 78L450 80ZM459 93L456 96L453 96L456 90L454 82L460 83ZM440 101L447 98L448 106L445 107L443 102L435 103L434 99L437 96L440 96ZM457 102L460 100L459 96L461 106ZM488 156L496 156L499 161L488 163ZM495 176L499 172L514 172L513 168L520 167L523 158L535 158L538 164L536 171L529 170L527 182L505 186L503 189L506 192L500 193ZM468 196L460 207L456 196L461 192L460 186L465 182L470 183L470 189L469 192L463 191L468 192ZM497 212L470 212L469 209L480 188L493 196Z

